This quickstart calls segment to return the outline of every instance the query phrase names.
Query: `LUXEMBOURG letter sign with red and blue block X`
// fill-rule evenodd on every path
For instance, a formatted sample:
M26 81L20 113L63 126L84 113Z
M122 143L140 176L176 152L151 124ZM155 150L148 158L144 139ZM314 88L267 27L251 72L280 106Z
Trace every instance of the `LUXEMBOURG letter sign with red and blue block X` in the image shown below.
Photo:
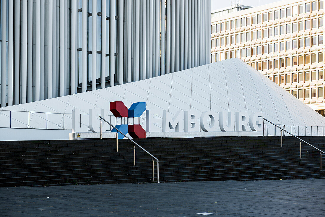
M146 132L214 132L214 131L262 131L263 114L255 112L227 112L227 111L177 111L171 114L166 110L146 110L145 102L135 102L128 109L123 102L110 102L110 111L116 117L121 117L121 124L115 127L125 135L129 133L132 138L146 138ZM123 124L124 118L141 117L145 112L146 130L138 124ZM106 119L107 111L101 109L89 109L89 129L92 132L100 132L98 114ZM78 109L72 109L72 133L87 132L87 127L81 127L80 113ZM125 120L124 120L125 122ZM102 122L102 132L109 130L109 125ZM110 132L116 132L116 129ZM124 136L118 133L118 138Z

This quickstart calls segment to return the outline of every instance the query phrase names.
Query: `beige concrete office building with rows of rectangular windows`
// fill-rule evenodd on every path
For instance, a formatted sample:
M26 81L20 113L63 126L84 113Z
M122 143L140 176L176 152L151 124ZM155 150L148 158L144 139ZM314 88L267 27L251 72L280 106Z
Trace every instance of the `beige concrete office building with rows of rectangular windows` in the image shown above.
M279 1L211 20L211 62L237 57L324 115L324 0Z

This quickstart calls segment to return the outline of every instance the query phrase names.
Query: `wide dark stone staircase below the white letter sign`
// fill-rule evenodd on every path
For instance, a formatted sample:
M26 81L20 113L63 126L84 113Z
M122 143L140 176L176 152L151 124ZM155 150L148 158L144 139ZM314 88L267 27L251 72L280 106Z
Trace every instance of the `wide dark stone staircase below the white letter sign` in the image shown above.
M302 137L325 150L325 137ZM325 178L320 153L283 137L160 138L135 140L159 159L159 181ZM325 156L323 156L323 162ZM325 170L325 164L323 164ZM157 178L155 162L155 181ZM119 140L0 142L0 186L138 183L152 181L152 158Z

